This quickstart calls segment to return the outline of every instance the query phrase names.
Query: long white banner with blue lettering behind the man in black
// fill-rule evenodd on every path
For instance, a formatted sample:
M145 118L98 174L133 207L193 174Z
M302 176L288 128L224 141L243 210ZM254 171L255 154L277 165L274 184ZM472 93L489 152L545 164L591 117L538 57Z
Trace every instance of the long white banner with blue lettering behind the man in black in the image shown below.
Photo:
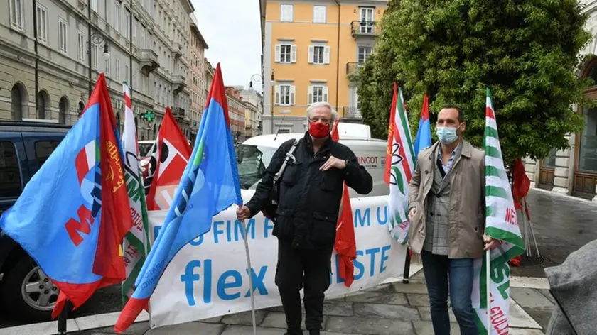
M249 195L243 192L244 201ZM387 196L353 198L351 203L357 239L355 282L345 287L338 277L334 252L332 285L326 298L399 278L404 270L407 248L387 233ZM242 223L236 221L235 213L232 207L215 216L212 229L186 245L168 265L151 296L151 328L251 310ZM149 212L152 241L165 217L166 211ZM257 309L281 305L274 283L278 241L271 235L273 229L262 214L247 220Z

